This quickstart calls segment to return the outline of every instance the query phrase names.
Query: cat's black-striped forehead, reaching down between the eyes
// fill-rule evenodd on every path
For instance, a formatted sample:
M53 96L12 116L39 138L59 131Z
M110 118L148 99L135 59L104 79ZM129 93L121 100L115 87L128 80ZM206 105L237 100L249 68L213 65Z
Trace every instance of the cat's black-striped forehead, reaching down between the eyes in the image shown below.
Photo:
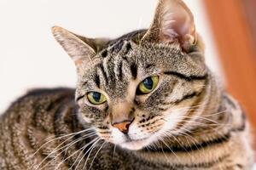
M85 84L88 90L101 88L113 98L122 98L128 93L130 82L171 69L180 55L175 44L142 45L120 40L96 55L96 62L84 71L79 84Z

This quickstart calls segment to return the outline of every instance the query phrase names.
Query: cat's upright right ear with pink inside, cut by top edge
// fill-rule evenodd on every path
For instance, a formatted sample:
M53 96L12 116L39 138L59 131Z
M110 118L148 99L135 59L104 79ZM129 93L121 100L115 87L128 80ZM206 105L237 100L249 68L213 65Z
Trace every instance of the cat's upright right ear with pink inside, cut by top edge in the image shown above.
M186 51L196 42L194 17L182 0L160 0L154 20L142 39L148 42L178 40Z

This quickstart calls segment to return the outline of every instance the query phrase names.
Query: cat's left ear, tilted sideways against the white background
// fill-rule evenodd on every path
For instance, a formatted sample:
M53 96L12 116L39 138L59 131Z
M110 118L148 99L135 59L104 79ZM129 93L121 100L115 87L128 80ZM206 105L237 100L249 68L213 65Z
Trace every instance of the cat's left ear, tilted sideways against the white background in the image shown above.
M94 44L90 39L80 37L60 26L52 27L51 31L56 41L61 44L78 68L83 63L88 64L96 55Z

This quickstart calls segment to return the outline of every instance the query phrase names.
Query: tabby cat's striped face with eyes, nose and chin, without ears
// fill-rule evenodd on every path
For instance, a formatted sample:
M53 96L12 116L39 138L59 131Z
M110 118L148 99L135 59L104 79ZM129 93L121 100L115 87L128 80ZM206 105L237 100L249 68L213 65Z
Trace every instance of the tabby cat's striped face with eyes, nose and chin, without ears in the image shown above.
M98 54L79 76L79 114L102 139L138 150L178 133L204 90L206 70L200 54L182 54L174 44L119 46Z

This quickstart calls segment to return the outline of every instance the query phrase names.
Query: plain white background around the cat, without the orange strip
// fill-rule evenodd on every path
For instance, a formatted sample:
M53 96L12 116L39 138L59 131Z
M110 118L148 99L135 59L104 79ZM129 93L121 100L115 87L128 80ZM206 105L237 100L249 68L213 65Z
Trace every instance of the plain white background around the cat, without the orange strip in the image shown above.
M185 0L206 42L207 64L221 77L202 0ZM156 0L0 0L0 112L29 88L74 87L73 61L51 26L87 37L117 37L147 28Z

